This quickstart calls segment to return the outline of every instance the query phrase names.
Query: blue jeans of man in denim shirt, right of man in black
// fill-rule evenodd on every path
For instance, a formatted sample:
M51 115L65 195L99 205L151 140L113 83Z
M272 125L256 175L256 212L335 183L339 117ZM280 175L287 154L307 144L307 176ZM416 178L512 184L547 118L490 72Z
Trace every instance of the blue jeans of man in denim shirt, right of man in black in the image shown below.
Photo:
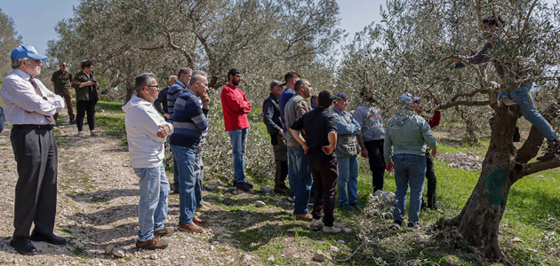
M339 160L339 203L357 204L357 156L337 158ZM348 198L347 198L348 192Z

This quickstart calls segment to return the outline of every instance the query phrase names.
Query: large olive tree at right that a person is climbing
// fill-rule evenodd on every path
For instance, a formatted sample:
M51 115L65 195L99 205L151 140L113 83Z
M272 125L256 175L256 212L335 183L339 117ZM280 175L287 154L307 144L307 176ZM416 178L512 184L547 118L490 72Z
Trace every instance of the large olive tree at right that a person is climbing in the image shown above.
M396 109L398 95L408 91L439 98L442 110L470 111L478 125L490 127L490 145L478 183L451 222L484 256L506 261L498 233L511 186L524 176L560 167L560 160L530 162L540 153L543 137L532 127L522 144L514 143L522 113L516 104L500 100L499 92L516 90L522 84L538 85L536 106L557 131L559 4L388 0L381 17L379 24L366 27L346 47L341 73L350 76L342 82L380 91L379 105L389 113ZM484 30L484 18L500 21L499 17L503 19L499 30ZM487 63L473 65L464 60L463 54L475 54L485 42L492 44ZM452 64L450 57L462 59L463 67ZM504 67L503 79L492 62Z

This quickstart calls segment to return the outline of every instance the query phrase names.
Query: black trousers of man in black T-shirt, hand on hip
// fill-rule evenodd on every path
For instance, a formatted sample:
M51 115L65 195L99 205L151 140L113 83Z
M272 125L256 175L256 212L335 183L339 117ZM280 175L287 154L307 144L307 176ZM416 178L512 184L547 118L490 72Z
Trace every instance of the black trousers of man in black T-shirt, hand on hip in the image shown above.
M339 165L336 160L308 160L313 182L316 184L315 200L311 214L314 219L321 218L323 210L324 226L332 226L334 222L334 203L336 201L336 185L339 179Z

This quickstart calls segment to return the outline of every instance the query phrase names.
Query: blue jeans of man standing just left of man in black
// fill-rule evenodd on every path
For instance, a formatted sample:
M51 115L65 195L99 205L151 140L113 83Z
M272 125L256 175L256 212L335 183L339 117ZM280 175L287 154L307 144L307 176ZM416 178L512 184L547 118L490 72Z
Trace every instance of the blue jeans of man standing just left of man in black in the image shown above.
M308 155L303 153L301 146L289 146L288 156L292 162L290 186L295 196L293 214L305 215L309 212L309 195L311 184L313 184L313 178L311 178L311 171L309 170Z

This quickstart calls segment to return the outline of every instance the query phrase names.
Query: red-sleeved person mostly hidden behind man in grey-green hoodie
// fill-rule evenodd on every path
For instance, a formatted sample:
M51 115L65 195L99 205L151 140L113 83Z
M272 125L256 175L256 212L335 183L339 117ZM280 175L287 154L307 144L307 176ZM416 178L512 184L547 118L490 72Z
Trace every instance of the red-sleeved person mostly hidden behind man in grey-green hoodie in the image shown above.
M441 113L439 112L439 101L434 99L434 105L436 106L436 110L434 111L434 115L430 118L427 115L423 115L422 112L424 111L424 106L420 102L420 97L415 97L413 99L412 108L414 108L414 112L420 114L426 121L428 121L428 125L430 129L434 129L439 125L439 121L441 120ZM422 204L420 208L428 207L431 209L437 209L436 207L436 184L437 184L437 176L436 171L434 170L434 159L432 155L426 150L426 179L428 179L428 192L426 196L428 197L428 203L425 200L422 200Z

